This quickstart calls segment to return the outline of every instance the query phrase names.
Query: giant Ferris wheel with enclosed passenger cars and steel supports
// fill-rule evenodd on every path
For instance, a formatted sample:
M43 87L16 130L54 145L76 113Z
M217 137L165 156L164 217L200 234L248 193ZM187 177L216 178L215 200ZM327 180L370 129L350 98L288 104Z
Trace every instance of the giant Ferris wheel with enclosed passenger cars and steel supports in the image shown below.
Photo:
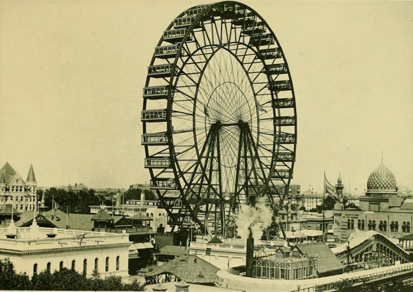
M141 121L150 186L169 225L223 234L251 196L275 216L282 208L295 95L282 48L252 8L195 6L171 22L148 67Z

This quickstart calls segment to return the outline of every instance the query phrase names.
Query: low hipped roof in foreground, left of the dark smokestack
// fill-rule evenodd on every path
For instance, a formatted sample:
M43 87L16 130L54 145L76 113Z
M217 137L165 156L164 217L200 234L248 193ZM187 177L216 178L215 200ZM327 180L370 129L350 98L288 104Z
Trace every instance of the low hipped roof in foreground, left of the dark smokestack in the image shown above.
M188 283L208 284L218 282L216 273L220 271L213 264L202 260L197 255L181 255L179 258L162 264L153 271L146 273L152 277L160 274L172 274Z

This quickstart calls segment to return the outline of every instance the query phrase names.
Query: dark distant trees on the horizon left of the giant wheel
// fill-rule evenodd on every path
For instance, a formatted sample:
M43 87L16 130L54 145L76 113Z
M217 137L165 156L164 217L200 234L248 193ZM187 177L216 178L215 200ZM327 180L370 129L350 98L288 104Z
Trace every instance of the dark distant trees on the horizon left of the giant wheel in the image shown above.
M43 191L39 189L37 191L39 198L43 195ZM121 194L121 200L140 200L142 194L141 189L129 189ZM146 200L157 200L157 197L149 189L144 191ZM54 199L59 204L61 211L70 211L73 213L90 213L89 206L96 206L104 204L112 206L116 200L115 193L109 194L96 194L94 189L81 190L81 191L66 191L65 189L56 189L54 187L47 189L44 193L45 205L49 209L52 209ZM112 198L112 199L111 199Z

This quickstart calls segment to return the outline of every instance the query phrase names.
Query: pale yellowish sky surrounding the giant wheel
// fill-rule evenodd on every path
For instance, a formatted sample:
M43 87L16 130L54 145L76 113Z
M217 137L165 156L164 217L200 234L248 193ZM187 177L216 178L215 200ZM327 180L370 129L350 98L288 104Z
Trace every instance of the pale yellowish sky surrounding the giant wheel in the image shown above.
M38 185L149 182L142 87L162 31L208 1L0 1L0 164ZM413 1L243 1L271 26L297 101L292 184L383 163L413 189Z

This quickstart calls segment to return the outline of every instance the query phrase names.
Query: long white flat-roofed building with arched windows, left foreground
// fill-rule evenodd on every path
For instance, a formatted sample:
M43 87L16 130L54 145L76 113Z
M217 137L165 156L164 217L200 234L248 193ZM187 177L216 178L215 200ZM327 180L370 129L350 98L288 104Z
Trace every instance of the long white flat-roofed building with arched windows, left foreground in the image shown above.
M84 275L128 276L129 234L39 227L0 228L0 259L10 258L17 273L30 277L74 269Z

